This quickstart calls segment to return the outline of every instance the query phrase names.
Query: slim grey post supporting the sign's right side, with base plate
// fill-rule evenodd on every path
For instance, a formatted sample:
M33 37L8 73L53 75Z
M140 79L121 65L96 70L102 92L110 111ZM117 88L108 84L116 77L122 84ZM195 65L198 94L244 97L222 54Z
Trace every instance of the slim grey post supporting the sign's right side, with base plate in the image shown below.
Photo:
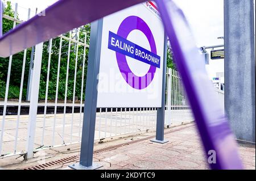
M164 140L164 113L166 111L166 66L167 66L167 36L164 35L164 57L163 57L163 85L162 85L162 107L158 108L156 118L156 138L151 140L160 144L168 142Z

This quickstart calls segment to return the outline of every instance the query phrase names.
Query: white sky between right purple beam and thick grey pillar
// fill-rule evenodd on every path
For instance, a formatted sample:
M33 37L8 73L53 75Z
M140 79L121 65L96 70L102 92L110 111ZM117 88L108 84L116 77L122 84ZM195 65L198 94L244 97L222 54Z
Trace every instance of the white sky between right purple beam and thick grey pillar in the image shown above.
M224 36L224 0L174 1L187 16L198 47L224 44L223 39L217 39ZM212 79L216 73L224 72L224 60L210 60L206 69ZM221 82L224 83L224 78Z

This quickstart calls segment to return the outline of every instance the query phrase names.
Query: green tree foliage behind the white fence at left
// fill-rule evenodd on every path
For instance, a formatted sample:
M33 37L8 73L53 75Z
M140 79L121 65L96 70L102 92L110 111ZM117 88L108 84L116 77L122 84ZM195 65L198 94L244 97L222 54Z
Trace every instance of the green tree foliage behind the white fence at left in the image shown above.
M14 17L14 10L11 7L11 3L6 3L5 15ZM8 19L3 19L3 33L10 31L13 28L13 21ZM75 32L72 32L72 36L77 36ZM85 35L87 38L85 40ZM80 42L85 42L89 44L90 39L90 24L87 24L80 29ZM69 33L64 36L69 36ZM60 70L59 70L59 91L58 98L65 98L65 83L67 75L67 59L68 59L68 40L62 40L61 46L61 58L60 58ZM56 95L56 84L57 84L57 71L59 62L59 47L60 47L60 37L56 37L52 40L52 52L51 52L51 66L49 71L49 86L48 86L48 99L55 100ZM49 56L49 42L43 45L43 57L42 57L42 69L40 76L40 87L39 87L39 100L44 100L46 96L46 84L47 84L47 69L48 69L48 56ZM78 52L76 53L76 50ZM75 95L80 99L81 96L81 82L82 82L82 62L84 60L84 46L79 45L77 49L76 43L71 43L71 53L69 60L69 76L68 76L68 89L67 89L67 99L73 99L73 87L75 83L75 65L76 65L76 54L77 54L77 76L76 76L76 91ZM10 86L9 86L9 99L18 99L20 90L20 81L22 75L22 64L23 64L24 52L17 53L13 56L11 64L11 74L10 74ZM28 73L30 69L30 58L31 58L31 48L27 49L26 55L26 68L24 72L24 82L23 82L23 100L26 99L27 92L27 82ZM84 73L84 90L85 90L85 79L87 70L87 60L88 60L88 48L85 50L85 73ZM5 87L7 80L7 72L9 68L9 58L0 58L0 99L5 98Z

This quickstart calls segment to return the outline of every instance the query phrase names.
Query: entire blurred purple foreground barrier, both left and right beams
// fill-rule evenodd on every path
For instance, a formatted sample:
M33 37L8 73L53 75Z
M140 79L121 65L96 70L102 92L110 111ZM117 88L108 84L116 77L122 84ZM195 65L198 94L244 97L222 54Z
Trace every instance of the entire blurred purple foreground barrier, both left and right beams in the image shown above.
M90 23L142 0L60 0L46 16L35 16L0 39L0 56L7 57L42 41ZM212 169L242 169L237 144L210 84L204 60L196 48L183 12L169 0L156 0L195 115L205 153L216 153ZM214 159L213 159L214 162Z

